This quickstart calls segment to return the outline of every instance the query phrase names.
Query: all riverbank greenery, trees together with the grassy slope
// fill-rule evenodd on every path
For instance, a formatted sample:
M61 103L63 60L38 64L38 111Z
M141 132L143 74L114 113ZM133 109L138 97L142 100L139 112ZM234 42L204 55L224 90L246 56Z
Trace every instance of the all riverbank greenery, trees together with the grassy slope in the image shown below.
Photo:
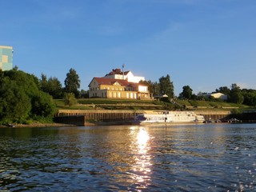
M173 94L174 87L169 75L159 78L159 82L142 83L146 83L154 95L166 92ZM218 90L228 95L228 102L194 95L189 86L183 87L178 98L158 100L86 98L87 91L79 90L79 87L80 80L74 69L66 74L65 87L62 87L58 78L47 79L44 74L39 79L17 67L14 70L0 70L0 125L52 123L54 114L61 109L232 110L239 113L242 110L254 110L256 106L256 90L240 90L236 84L232 84L231 90L227 87L220 87Z

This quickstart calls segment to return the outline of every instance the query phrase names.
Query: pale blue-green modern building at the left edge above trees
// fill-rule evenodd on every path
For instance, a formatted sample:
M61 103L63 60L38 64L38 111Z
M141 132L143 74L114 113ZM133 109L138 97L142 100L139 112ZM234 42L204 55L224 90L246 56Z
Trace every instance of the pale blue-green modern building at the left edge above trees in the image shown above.
M13 47L0 46L0 70L13 69Z

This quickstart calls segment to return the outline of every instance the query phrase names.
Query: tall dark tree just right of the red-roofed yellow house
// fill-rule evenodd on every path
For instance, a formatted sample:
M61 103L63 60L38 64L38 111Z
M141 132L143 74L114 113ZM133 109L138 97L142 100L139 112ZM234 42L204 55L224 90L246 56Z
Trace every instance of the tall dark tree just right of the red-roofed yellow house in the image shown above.
M174 98L174 84L170 82L169 74L166 77L162 76L162 78L159 78L159 88L160 94L167 94L169 98Z

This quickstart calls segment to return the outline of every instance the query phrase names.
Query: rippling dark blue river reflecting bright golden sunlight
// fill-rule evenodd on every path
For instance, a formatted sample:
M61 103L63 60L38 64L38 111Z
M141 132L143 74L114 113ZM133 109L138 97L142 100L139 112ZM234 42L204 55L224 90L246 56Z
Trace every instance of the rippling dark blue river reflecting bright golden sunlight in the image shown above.
M256 124L0 129L0 191L255 191Z

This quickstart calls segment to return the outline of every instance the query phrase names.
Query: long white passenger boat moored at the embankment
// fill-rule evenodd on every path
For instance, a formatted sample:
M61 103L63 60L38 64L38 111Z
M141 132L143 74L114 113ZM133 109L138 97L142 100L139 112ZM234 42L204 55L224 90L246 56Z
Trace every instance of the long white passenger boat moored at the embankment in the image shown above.
M204 122L203 115L194 114L193 111L150 111L138 114L134 122L145 123L187 123Z

